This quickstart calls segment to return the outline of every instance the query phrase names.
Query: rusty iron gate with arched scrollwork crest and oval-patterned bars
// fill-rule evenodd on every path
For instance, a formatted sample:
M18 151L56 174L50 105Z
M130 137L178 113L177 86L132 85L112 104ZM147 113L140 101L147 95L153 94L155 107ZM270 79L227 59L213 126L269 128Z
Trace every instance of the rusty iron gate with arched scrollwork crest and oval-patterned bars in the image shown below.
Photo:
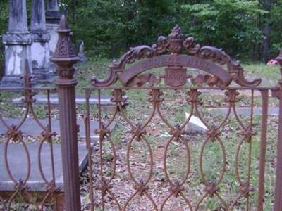
M282 52L282 51L281 51ZM282 55L282 54L281 54ZM282 57L281 57L282 58ZM282 63L282 59L281 59ZM281 65L282 66L282 65ZM149 72L154 68L164 68L163 72ZM192 74L190 68L197 68L197 74ZM195 72L193 72L195 73ZM164 83L161 83L164 81ZM189 82L188 82L189 81ZM102 210L106 209L106 204L116 205L117 210L127 210L130 203L137 198L137 195L146 198L148 203L152 204L153 210L164 210L168 204L168 200L171 198L182 198L185 205L190 210L201 210L204 201L208 198L216 198L216 200L221 204L221 210L234 210L238 203L244 201L244 210L252 210L253 207L257 207L257 210L263 210L264 204L264 173L266 165L266 138L267 138L267 115L268 115L268 92L271 87L258 87L261 83L261 79L254 79L249 81L245 78L243 67L239 62L231 59L228 54L226 54L221 49L217 49L212 46L200 46L197 44L195 39L192 37L185 38L180 30L180 27L176 25L171 31L168 37L161 36L158 38L157 44L152 46L137 46L130 49L125 53L118 61L114 61L109 65L109 75L106 79L97 79L94 77L92 79L92 86L88 87L86 91L91 93L92 91L98 92L99 102L100 95L103 89L113 90L112 101L116 103L116 108L113 115L110 117L110 122L114 119L124 120L128 127L130 127L130 133L126 134L128 137L127 151L126 151L126 167L127 173L129 175L130 181L133 183L133 190L130 192L130 196L124 200L116 197L111 191L113 186L115 186L116 181L116 147L111 140L110 132L105 136L102 134L99 139L99 188L97 190L101 191L102 205L100 206ZM116 84L121 84L115 86ZM232 85L232 86L231 86ZM281 82L282 87L282 82ZM124 108L121 106L123 101L123 95L125 91L132 90L147 90L148 91L148 101L151 103L150 111L146 115L146 120L143 123L134 122L125 112ZM161 112L161 105L164 105L164 91L166 90L182 90L188 91L186 100L190 105L189 116L185 119L182 124L171 124L170 121L166 119L166 114ZM223 116L221 122L216 122L216 125L210 125L209 121L202 113L200 100L200 94L202 89L221 89L225 91L226 97L223 100L228 105L228 111ZM248 90L251 93L250 96L250 119L245 120L238 115L236 104L240 102L239 90ZM256 132L254 129L254 91L259 90L262 94L262 120L261 120L261 137L260 137L260 154L259 154L259 174L258 174L258 185L257 187L252 184L251 169L252 169L252 139ZM273 91L276 96L282 96L282 88ZM90 106L89 101L87 101L87 117L90 118ZM281 103L282 105L282 103ZM106 132L109 124L104 124L102 122L101 104L99 103L99 109L97 110L99 116L99 131ZM282 106L281 106L282 108ZM170 135L165 141L164 153L163 153L163 165L162 170L164 171L165 181L168 182L169 192L164 198L161 198L161 202L153 197L152 190L150 190L153 172L154 172L154 160L152 146L147 138L148 125L152 122L155 116L159 117L159 122L168 127ZM200 179L202 181L202 186L204 186L202 195L197 198L197 201L192 201L192 199L186 196L185 185L187 185L188 180L192 177L192 172L190 166L192 165L190 142L185 140L184 129L186 125L190 122L192 115L197 116L202 123L207 127L207 134L204 136L204 141L202 142L202 147L200 148L199 165L198 172L200 174ZM223 196L223 191L221 191L222 186L226 185L224 177L227 168L227 151L226 142L222 139L222 129L225 124L228 124L228 120L231 115L237 127L239 128L238 143L234 153L234 176L237 187L237 193L232 200L227 201L225 196ZM282 121L282 111L279 115L279 120ZM88 123L89 124L89 123ZM88 125L87 124L87 125ZM279 123L281 125L282 122ZM87 132L90 136L90 132ZM279 127L279 137L278 139L278 165L276 173L276 202L274 203L274 210L278 211L282 209L281 203L281 178L282 177L282 129ZM90 137L87 138L90 140ZM111 150L113 152L114 161L113 169L111 172L111 177L106 177L103 173L105 163L103 161L103 148L104 141L109 141L111 143ZM147 172L142 175L141 178L137 179L133 174L133 168L130 166L130 155L132 155L131 148L133 148L134 141L142 143L147 149L145 150L148 158ZM183 179L175 180L171 177L169 173L168 166L168 153L169 147L173 142L178 142L182 144L185 149L185 157L187 158L187 168L183 175ZM215 180L209 180L208 176L204 171L204 151L207 150L207 145L212 144L217 146L219 153L221 154L221 163L219 172L216 174ZM243 152L243 147L247 146L246 158L247 164L246 176L240 174L240 153ZM89 151L91 153L91 151ZM91 162L91 159L89 159ZM186 162L186 161L185 161ZM280 163L280 165L279 165ZM94 175L93 169L89 171L89 177ZM92 188L94 181L91 180L91 210L97 205L94 205L94 191ZM257 192L256 204L253 204L251 197L254 197L253 192ZM106 200L106 196L110 200ZM99 205L98 205L99 207Z

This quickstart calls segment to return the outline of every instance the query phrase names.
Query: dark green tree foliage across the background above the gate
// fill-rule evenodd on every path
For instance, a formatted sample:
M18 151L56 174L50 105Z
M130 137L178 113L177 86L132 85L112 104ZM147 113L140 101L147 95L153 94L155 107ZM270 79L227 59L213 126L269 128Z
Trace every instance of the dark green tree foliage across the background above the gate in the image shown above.
M0 0L0 32L7 31L8 0ZM271 23L271 53L281 47L282 0L61 0L74 39L85 41L87 56L118 58L131 46L152 44L178 23L185 35L223 48L243 60L262 57L262 25ZM30 0L27 0L30 15ZM270 18L269 18L270 15ZM2 56L3 58L3 56ZM1 60L1 53L0 53Z

